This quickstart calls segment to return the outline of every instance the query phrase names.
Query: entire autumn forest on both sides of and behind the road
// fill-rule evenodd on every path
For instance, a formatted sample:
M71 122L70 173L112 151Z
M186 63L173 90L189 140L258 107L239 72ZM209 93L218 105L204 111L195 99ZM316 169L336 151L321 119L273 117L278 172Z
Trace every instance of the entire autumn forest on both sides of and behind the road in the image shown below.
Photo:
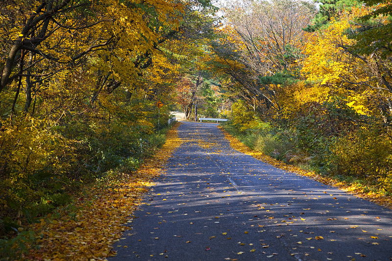
M228 118L251 148L391 196L392 5L218 10L209 0L0 3L2 243L89 184L132 175L165 142L174 110Z

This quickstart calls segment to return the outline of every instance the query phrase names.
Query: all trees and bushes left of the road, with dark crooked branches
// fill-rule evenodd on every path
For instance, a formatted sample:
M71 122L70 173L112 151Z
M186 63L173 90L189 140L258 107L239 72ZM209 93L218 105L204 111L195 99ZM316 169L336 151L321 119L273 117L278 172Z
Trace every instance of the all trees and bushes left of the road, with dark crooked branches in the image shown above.
M186 58L180 46L210 30L197 19L214 10L187 0L1 1L1 242L27 240L29 224L88 184L134 173L154 154Z

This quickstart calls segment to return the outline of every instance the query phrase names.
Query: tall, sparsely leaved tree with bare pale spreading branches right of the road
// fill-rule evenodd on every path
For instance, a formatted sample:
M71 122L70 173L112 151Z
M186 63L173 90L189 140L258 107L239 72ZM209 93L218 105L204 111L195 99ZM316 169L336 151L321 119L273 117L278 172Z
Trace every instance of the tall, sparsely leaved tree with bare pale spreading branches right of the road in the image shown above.
M306 39L302 28L313 9L294 0L245 0L225 13L222 37L212 45L212 66L231 78L225 88L272 119L282 109L277 99L281 88L299 77Z

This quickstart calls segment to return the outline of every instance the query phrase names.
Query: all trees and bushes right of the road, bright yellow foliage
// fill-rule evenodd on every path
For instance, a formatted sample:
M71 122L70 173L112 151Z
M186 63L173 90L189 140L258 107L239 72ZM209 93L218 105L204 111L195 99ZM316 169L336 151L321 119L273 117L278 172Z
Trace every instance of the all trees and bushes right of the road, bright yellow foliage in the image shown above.
M229 129L247 145L390 195L391 4L365 3L234 2L210 66L242 100Z

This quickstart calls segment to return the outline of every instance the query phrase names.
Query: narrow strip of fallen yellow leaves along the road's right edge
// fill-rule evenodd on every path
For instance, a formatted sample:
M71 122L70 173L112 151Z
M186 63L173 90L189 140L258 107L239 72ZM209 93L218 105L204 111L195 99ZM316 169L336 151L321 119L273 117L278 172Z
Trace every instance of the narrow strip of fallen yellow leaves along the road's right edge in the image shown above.
M342 181L339 181L339 180L332 178L332 177L321 176L315 172L303 170L303 169L301 169L297 166L294 166L294 165L285 164L282 161L278 161L270 156L263 154L262 152L259 152L259 151L256 151L256 150L253 150L253 149L247 147L244 143L238 141L235 137L231 136L224 129L221 128L221 130L223 131L226 139L228 139L230 141L230 145L238 151L241 151L247 155L251 155L254 158L259 159L263 162L269 163L272 166L276 166L276 167L284 169L284 170L289 170L289 171L292 171L292 172L295 172L295 173L298 173L298 174L301 174L304 176L312 177L313 179L315 179L321 183L339 187L342 190L345 190L345 191L351 192L351 193L355 193L356 195L361 196L363 198L366 198L374 203L377 203L379 205L382 205L382 206L388 207L389 209L392 209L392 197L391 196L386 196L386 195L382 195L382 194L375 193L375 192L364 193L364 191L361 188L355 186L355 184L348 184L347 182L342 182Z

